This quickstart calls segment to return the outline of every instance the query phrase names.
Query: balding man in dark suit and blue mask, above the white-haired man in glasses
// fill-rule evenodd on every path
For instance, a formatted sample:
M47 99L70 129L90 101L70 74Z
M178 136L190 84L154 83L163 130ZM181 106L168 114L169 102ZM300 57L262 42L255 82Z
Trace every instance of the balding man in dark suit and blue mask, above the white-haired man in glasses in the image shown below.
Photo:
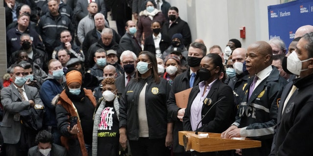
M141 46L137 39L135 39L134 34L136 33L136 24L134 21L129 20L126 22L126 33L119 41L119 46L123 50L129 50L132 51L138 56L138 54L142 51Z

